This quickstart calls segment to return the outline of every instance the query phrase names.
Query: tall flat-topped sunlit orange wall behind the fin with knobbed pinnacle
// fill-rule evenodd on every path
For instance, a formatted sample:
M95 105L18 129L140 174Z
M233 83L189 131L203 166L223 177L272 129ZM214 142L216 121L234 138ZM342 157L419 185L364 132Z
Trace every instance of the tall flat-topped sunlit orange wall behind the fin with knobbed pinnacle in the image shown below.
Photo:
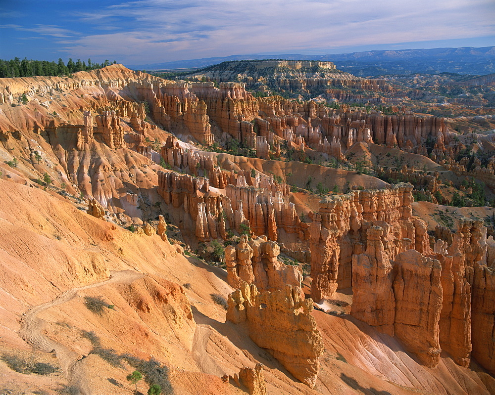
M403 183L391 189L354 190L325 197L318 212L309 213L311 297L320 301L332 296L339 281L344 287L350 286L352 255L364 251L370 226L384 229L384 253L390 260L410 248L412 240L429 254L425 226L411 216L412 201L412 185Z

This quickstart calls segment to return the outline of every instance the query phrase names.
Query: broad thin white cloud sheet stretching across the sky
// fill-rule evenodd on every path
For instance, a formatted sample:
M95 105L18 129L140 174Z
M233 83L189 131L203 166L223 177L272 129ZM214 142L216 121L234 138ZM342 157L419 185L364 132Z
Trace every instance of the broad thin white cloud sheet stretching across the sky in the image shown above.
M72 37L60 44L77 57L141 64L495 34L493 0L143 0L77 16L94 27L120 26L120 31L74 38L74 32L54 26L35 29Z

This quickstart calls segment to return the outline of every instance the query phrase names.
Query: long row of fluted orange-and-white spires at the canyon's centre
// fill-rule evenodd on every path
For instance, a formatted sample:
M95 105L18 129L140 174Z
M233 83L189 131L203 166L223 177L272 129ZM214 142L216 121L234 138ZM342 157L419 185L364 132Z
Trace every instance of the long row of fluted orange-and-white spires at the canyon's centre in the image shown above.
M191 215L196 222L198 240L226 239L227 229L239 233L249 229L255 235L267 235L271 240L277 240L279 227L287 233L303 234L295 205L288 201L290 189L287 184L275 183L267 176L251 177L247 176L249 172L235 174L218 168L209 174L214 184L225 189L210 188L205 177L158 173L158 193L166 204L181 207ZM236 182L236 185L228 182Z

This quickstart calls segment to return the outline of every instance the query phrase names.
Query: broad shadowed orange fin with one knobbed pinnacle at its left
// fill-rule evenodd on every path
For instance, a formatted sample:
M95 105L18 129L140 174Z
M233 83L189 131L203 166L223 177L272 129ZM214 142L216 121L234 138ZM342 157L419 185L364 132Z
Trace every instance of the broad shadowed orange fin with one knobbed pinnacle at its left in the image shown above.
M390 335L427 366L440 360L443 290L440 262L408 250L391 262L382 237L384 229L367 231L366 252L352 260L351 314Z

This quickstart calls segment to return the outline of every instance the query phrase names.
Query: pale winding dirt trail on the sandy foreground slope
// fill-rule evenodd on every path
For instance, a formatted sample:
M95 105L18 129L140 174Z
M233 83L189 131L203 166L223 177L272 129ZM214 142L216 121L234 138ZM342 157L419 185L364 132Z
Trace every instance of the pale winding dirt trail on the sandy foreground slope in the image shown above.
M33 347L36 347L45 352L54 351L56 353L60 366L65 373L69 386L79 388L80 394L91 395L91 389L87 384L88 380L86 380L86 378L84 377L84 369L80 363L80 360L82 360L83 358L78 359L78 353L70 351L64 345L56 343L46 337L43 334L45 321L38 318L38 314L49 309L50 307L58 306L62 303L70 301L77 295L78 291L96 288L111 283L131 282L144 276L144 273L136 272L133 270L110 272L110 278L107 280L95 284L89 284L82 287L69 289L50 302L31 307L24 314L21 320L21 329L19 330L18 334Z

